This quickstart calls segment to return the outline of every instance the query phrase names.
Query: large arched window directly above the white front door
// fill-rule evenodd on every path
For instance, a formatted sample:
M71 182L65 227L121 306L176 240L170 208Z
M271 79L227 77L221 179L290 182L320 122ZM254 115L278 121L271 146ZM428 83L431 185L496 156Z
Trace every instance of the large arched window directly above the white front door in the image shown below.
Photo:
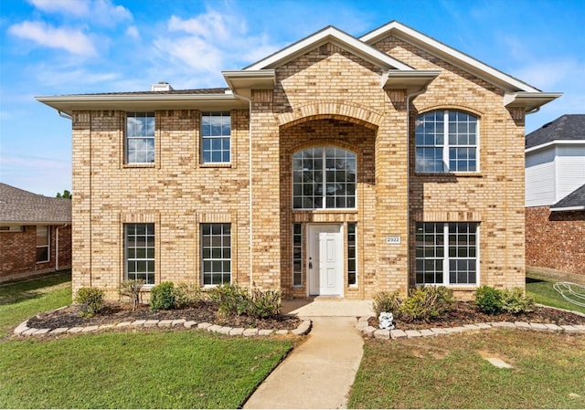
M356 154L314 147L293 154L293 208L355 208Z

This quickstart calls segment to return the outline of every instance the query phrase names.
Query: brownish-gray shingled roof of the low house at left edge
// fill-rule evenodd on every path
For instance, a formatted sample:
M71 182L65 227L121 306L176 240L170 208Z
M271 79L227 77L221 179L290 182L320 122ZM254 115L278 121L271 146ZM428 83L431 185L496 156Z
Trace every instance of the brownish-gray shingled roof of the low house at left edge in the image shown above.
M49 198L0 183L0 224L71 223L71 200Z

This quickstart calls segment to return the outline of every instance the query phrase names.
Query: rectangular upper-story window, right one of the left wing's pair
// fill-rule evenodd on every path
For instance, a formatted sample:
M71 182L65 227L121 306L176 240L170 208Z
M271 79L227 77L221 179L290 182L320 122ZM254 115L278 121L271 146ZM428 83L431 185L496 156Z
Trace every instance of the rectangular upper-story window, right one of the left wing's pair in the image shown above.
M201 116L203 163L231 161L231 116L229 112L204 112Z

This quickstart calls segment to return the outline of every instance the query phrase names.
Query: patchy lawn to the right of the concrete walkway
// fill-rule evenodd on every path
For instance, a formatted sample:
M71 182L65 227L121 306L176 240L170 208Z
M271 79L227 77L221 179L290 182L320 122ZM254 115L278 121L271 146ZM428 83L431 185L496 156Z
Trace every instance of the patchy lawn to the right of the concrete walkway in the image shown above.
M368 340L349 407L585 408L583 363L584 335L493 330Z

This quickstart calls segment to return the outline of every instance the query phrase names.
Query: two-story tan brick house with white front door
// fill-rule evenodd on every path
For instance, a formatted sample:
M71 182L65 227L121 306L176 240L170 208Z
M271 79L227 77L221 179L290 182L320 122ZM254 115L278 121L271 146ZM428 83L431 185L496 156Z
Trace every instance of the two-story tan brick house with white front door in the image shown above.
M37 98L72 119L74 290L524 287L524 121L560 94L398 22L223 76Z

